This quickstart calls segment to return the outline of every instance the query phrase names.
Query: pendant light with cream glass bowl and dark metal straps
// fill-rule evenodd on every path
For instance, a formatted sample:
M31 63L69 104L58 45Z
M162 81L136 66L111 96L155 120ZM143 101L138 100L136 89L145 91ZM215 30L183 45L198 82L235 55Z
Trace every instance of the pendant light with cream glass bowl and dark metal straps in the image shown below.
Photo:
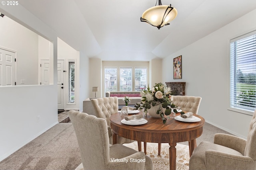
M160 29L164 25L169 25L177 16L177 10L168 5L162 5L161 0L158 0L158 6L153 6L147 9L140 17L140 21L147 22L150 25Z

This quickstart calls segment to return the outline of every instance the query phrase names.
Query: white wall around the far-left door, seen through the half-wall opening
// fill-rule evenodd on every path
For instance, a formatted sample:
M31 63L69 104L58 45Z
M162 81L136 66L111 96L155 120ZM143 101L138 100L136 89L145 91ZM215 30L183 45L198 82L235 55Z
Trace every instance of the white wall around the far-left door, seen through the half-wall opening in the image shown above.
M0 18L0 30L0 48L17 52L16 84L38 84L38 35L7 16Z

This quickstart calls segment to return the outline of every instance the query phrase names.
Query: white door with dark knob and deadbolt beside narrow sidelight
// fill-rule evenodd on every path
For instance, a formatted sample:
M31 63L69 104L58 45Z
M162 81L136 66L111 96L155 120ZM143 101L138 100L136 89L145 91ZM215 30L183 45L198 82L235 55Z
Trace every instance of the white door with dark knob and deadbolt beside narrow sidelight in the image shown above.
M64 60L58 60L57 68L58 68L58 109L64 109Z

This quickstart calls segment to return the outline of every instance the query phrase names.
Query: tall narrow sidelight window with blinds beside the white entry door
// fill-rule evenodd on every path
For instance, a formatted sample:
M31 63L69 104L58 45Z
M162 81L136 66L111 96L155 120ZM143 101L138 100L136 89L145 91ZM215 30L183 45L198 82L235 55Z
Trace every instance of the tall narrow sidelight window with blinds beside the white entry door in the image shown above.
M68 62L68 103L75 102L75 62Z

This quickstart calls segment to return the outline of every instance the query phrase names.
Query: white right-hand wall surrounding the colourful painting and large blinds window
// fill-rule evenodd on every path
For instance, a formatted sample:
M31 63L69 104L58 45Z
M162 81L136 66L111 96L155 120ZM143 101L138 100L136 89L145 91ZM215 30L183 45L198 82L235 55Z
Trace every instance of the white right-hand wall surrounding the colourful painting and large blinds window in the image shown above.
M199 115L209 123L243 138L247 137L252 116L228 110L230 39L256 30L255 18L256 10L162 61L164 82L186 82L186 95L202 97ZM180 55L182 79L173 80L173 70L166 68L173 58Z

